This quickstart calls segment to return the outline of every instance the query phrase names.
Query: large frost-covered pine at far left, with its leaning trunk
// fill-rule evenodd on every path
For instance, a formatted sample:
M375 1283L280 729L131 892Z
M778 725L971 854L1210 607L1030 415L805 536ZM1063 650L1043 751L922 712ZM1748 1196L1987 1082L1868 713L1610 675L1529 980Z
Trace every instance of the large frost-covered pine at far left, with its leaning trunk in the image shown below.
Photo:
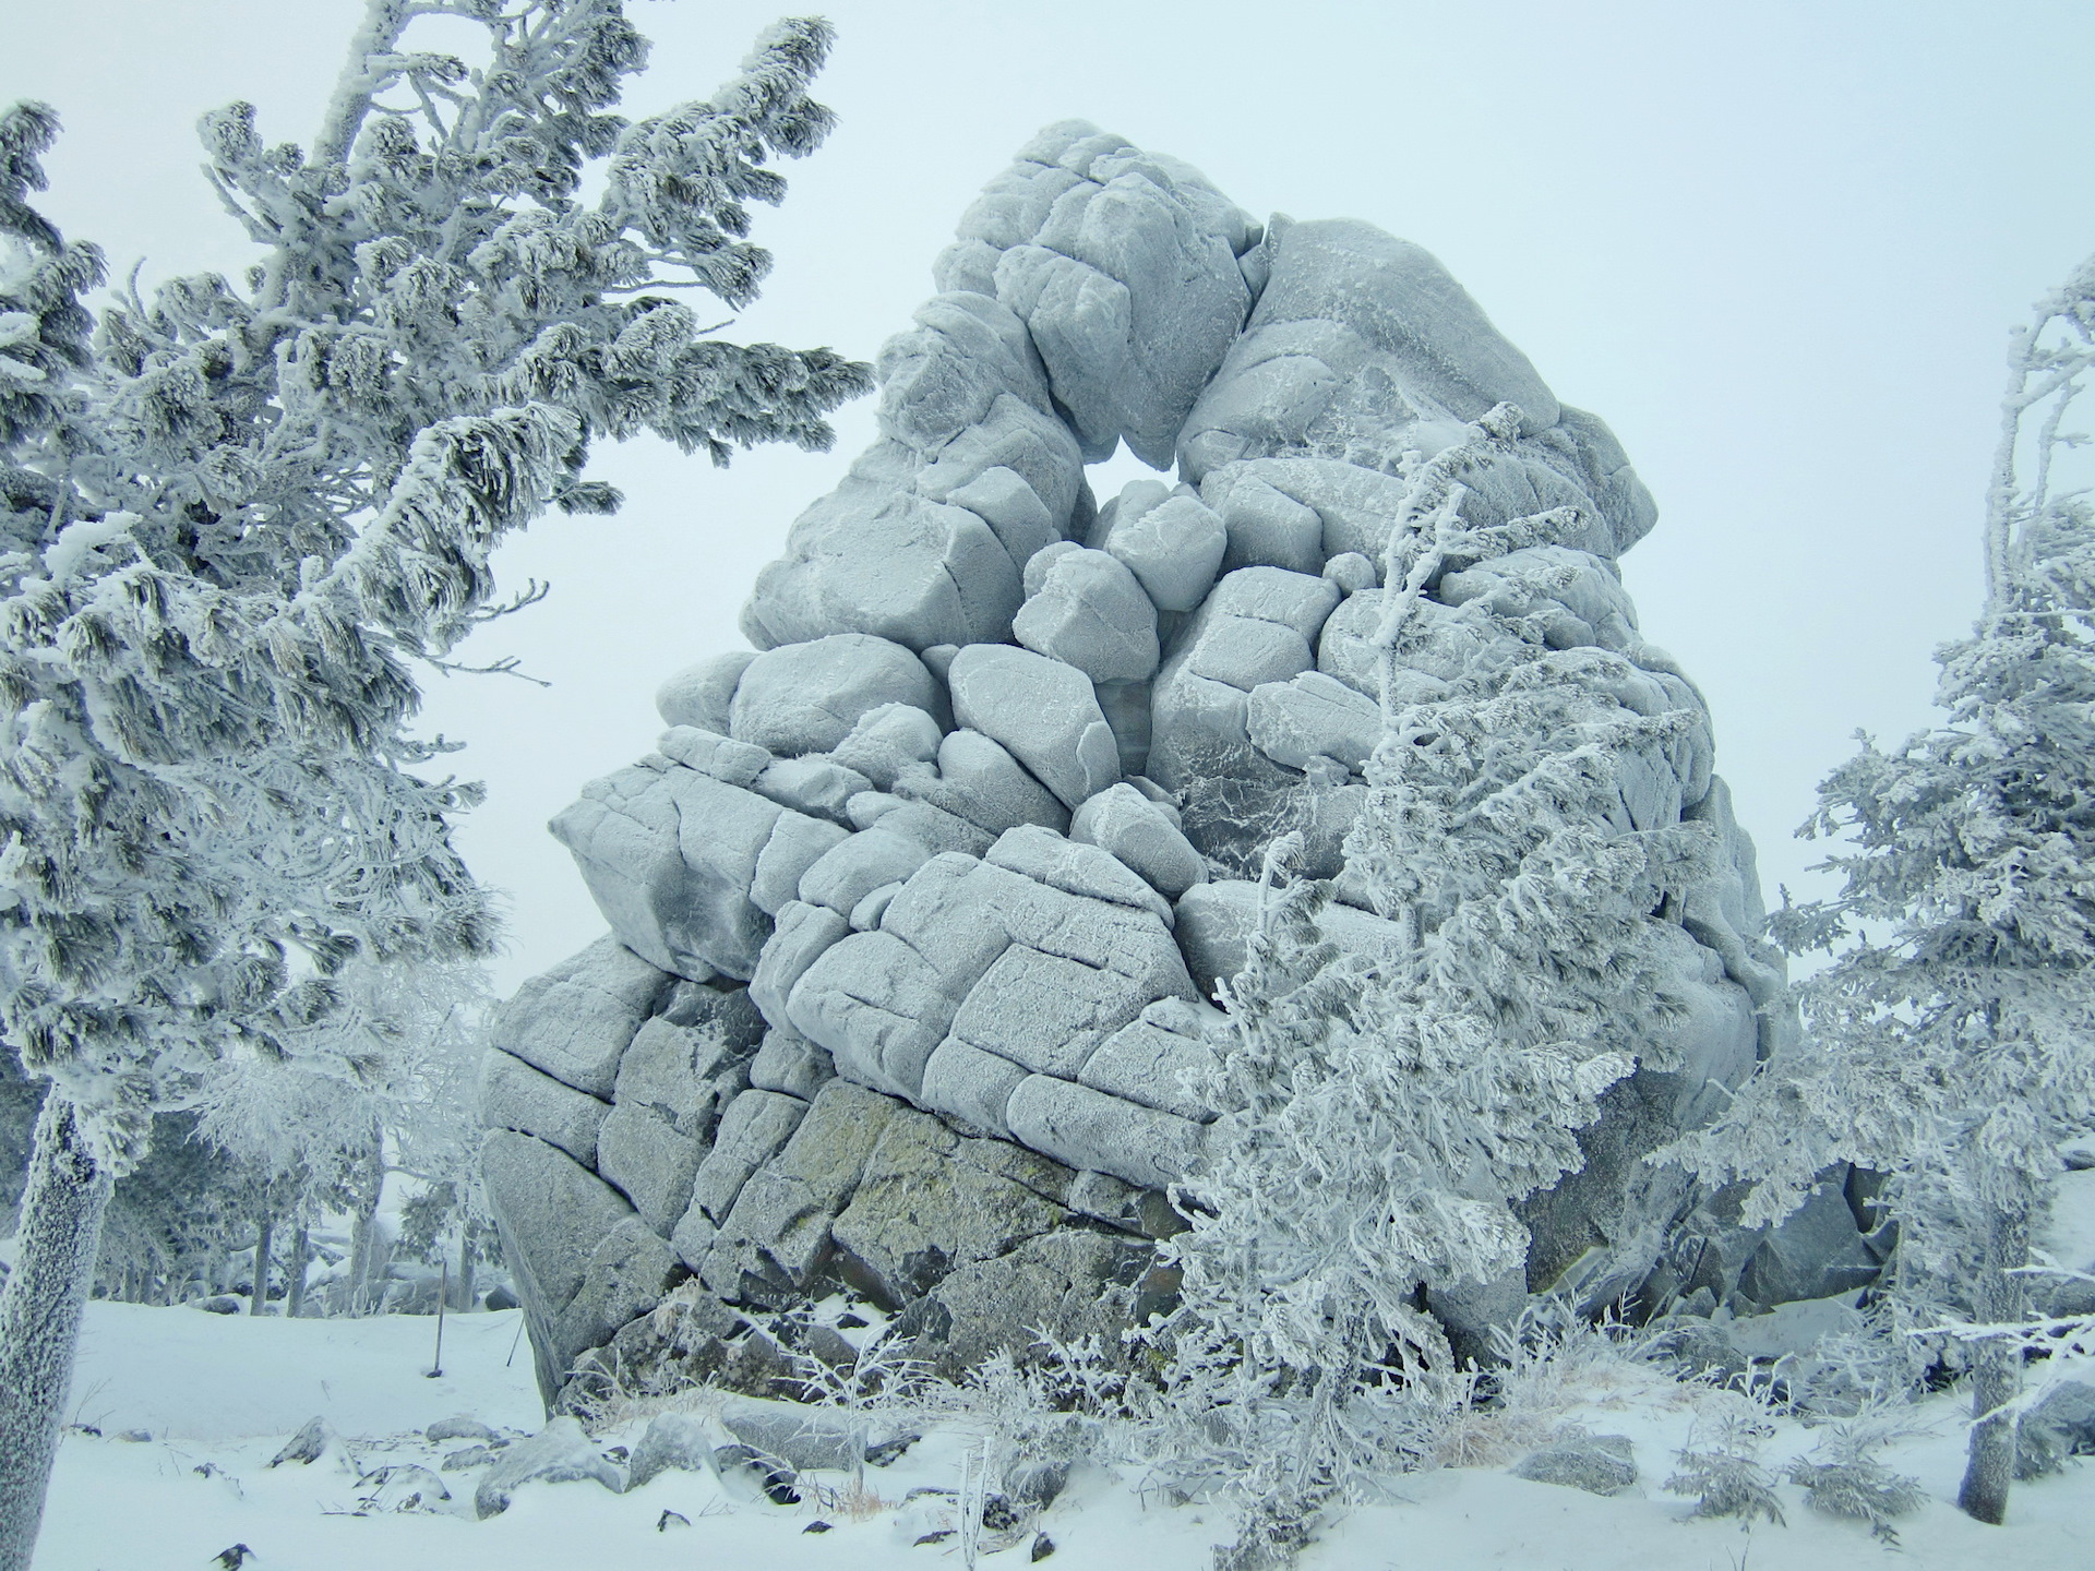
M478 25L478 65L417 48L423 19ZM750 205L830 126L828 44L779 23L712 98L626 124L620 0L371 0L310 149L247 105L201 121L262 262L98 318L98 253L29 205L57 119L0 115L0 1026L52 1083L0 1295L0 1571L151 1110L235 1045L289 1052L350 955L490 941L448 840L471 792L409 725L415 662L501 610L494 545L616 507L595 438L821 446L869 385L675 297L754 295Z

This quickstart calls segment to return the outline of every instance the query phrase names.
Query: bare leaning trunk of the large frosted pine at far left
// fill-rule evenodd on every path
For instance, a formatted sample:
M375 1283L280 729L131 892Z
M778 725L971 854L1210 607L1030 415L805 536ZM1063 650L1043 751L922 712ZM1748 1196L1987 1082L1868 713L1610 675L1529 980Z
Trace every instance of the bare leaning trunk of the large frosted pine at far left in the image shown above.
M52 1087L36 1121L15 1271L0 1288L0 1571L29 1571L36 1550L111 1188L80 1110Z

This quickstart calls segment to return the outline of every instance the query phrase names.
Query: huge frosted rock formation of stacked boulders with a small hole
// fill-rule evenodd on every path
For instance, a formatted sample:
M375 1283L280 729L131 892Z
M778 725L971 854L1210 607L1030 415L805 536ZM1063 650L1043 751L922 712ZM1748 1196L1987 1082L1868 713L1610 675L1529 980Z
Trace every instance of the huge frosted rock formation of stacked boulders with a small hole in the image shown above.
M1450 563L1395 695L1508 643L1609 651L1626 708L1680 716L1611 823L1722 846L1653 917L1680 1068L1609 1091L1584 1171L1521 1207L1525 1286L1751 1307L1867 1280L1842 1175L1760 1236L1642 1163L1770 1049L1783 972L1701 698L1622 591L1655 509L1607 425L1416 245L1253 224L1079 121L985 189L934 279L880 354L880 440L758 574L754 649L672 674L658 752L553 823L612 934L517 993L484 1079L549 1401L578 1366L788 1391L792 1353L842 1338L775 1311L840 1288L955 1374L1169 1303L1154 1240L1165 1190L1198 1188L1190 1075L1259 848L1303 834L1332 943L1395 938L1341 850L1381 561L1420 463L1500 404L1464 522L1554 532ZM1096 505L1085 465L1121 442L1177 482ZM1521 1286L1429 1301L1462 1345Z

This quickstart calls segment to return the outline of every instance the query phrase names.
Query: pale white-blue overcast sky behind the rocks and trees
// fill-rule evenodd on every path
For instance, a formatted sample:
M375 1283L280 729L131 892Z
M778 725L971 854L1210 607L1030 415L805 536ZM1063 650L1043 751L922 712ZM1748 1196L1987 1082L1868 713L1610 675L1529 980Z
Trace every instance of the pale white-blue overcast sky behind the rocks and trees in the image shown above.
M0 0L0 101L54 103L44 209L145 279L247 247L191 126L230 98L306 142L360 0ZM1659 499L1624 561L1645 633L1703 685L1762 878L1867 727L1927 716L1929 649L1978 607L1978 509L2007 329L2095 249L2095 115L2074 0L1242 4L836 0L842 117L758 235L740 337L872 358L1031 132L1081 115L1200 165L1253 214L1353 216L1433 249L1554 392L1607 419ZM656 40L629 111L704 96L775 0L631 15ZM723 312L725 314L725 312ZM499 559L553 595L467 651L549 689L450 679L429 723L490 800L463 829L509 890L503 987L603 924L543 825L643 752L670 670L735 614L832 455L727 473L605 448L614 519L551 517ZM1110 494L1131 461L1094 475Z

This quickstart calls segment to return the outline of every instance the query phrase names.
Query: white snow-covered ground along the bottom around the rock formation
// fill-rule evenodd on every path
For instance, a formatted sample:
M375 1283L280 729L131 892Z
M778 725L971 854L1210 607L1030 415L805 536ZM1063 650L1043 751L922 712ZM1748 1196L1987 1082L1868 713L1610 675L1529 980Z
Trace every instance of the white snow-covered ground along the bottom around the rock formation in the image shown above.
M94 1303L88 1309L73 1431L59 1456L38 1571L212 1571L220 1550L245 1544L249 1571L582 1571L585 1567L706 1567L708 1571L903 1571L960 1565L957 1540L918 1544L936 1527L911 1489L960 1483L968 1450L957 1435L932 1433L884 1470L867 1470L882 1506L855 1519L819 1504L773 1506L723 1493L704 1473L664 1473L614 1496L597 1483L532 1483L511 1508L473 1521L467 1500L478 1475L438 1477L457 1496L448 1510L360 1510L358 1473L385 1462L436 1468L459 1441L432 1445L419 1431L471 1414L494 1429L541 1422L530 1382L530 1349L515 1345L517 1315L478 1313L446 1322L444 1374L425 1378L434 1322L247 1320L195 1309ZM1921 1479L1929 1502L1900 1521L1900 1550L1871 1540L1854 1521L1827 1519L1781 1485L1787 1527L1686 1521L1691 1502L1663 1491L1672 1454L1714 1401L1659 1370L1596 1364L1575 1378L1565 1403L1529 1433L1479 1420L1458 1437L1477 1458L1402 1481L1402 1502L1355 1512L1305 1556L1309 1571L1433 1567L1469 1571L1854 1571L1854 1567L1940 1567L1942 1571L2049 1571L2089 1565L2095 1468L2017 1485L2009 1525L1980 1527L1948 1504L1957 1489L1963 1435L1959 1410L1936 1399L1917 1410L1932 1433L1894 1445L1886 1462ZM312 1466L268 1462L312 1416L346 1437ZM1536 1422L1584 1424L1634 1441L1638 1485L1598 1498L1527 1483L1504 1466L1529 1443ZM147 1431L151 1439L122 1439ZM641 1422L603 1435L633 1445ZM725 1439L725 1435L723 1435ZM1777 1422L1768 1460L1808 1452L1812 1431ZM354 1466L352 1466L354 1460ZM842 1475L838 1475L842 1483ZM928 1498L936 1506L939 1496ZM689 1527L664 1521L677 1512ZM809 1525L830 1521L830 1531ZM1215 1512L1142 1500L1125 1483L1079 1473L1039 1527L1054 1563L1071 1571L1207 1571L1221 1533ZM985 1556L985 1565L1027 1565L1031 1535Z

